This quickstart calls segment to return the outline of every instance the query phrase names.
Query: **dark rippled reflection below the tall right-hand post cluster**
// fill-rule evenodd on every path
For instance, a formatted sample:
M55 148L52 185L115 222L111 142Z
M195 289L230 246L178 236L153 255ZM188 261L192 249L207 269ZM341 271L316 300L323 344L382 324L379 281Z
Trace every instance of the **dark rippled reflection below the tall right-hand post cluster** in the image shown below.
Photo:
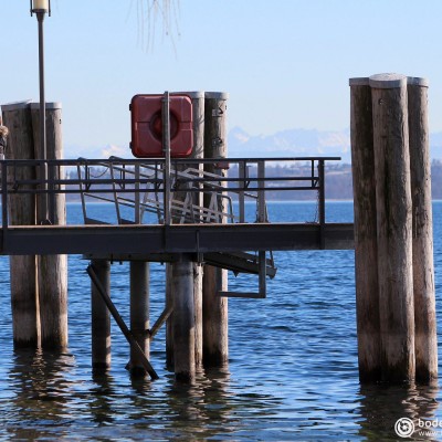
M418 419L433 420L439 408L439 386L372 385L360 388L361 415L359 434L366 440L397 441L394 423L400 418L411 419L418 429ZM414 434L414 440L419 439Z

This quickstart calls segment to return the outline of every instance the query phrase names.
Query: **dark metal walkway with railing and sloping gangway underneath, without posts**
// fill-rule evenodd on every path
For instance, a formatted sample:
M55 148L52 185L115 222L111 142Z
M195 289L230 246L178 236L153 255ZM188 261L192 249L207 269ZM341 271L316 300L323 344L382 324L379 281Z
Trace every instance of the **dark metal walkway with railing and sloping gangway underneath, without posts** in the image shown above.
M325 161L338 159L3 160L0 254L173 262L186 253L235 274L257 274L256 297L263 297L265 277L276 273L273 251L354 248L352 224L326 222ZM286 173L269 176L272 164L284 164ZM309 167L294 166L299 164ZM46 181L22 178L23 170L42 167L51 177ZM317 219L272 223L266 194L274 191L293 192L294 199L298 191L316 192ZM49 213L56 194L76 194L84 224L52 225L49 219L43 225L11 225L10 197L18 204L30 194L43 197ZM114 221L90 215L97 201L114 208Z

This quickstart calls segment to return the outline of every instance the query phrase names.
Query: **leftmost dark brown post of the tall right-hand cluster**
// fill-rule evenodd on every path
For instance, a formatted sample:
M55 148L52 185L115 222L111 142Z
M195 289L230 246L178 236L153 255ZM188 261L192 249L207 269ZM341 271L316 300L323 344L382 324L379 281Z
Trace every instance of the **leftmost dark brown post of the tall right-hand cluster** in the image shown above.
M368 77L349 83L359 379L370 382L381 379L371 88Z

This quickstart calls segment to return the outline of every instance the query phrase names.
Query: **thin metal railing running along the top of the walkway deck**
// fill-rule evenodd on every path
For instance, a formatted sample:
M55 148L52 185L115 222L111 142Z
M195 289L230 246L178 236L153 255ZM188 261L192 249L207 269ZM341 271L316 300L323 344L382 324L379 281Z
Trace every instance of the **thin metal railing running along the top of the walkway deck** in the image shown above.
M223 217L229 219L238 219L233 213L232 198L234 194L240 194L242 201L240 202L240 211L243 210L245 198L259 200L260 196L264 192L276 192L276 191L318 191L319 194L319 224L325 224L325 161L338 160L338 157L293 157L293 158L246 158L246 159L223 159L223 165L229 164L233 166L230 170L233 170L233 176L220 177L215 173L203 172L200 169L187 168L185 171L177 170L178 165L201 165L201 164L217 164L219 159L171 159L170 177L171 182L169 188L166 189L164 185L165 176L165 160L152 159L152 160L134 160L134 159L117 159L110 158L109 160L3 160L1 170L1 183L2 183L2 213L8 212L8 194L23 194L23 193L66 193L66 194L80 194L84 209L84 217L87 215L85 207L85 197L88 199L95 199L99 201L107 201L118 203L126 201L124 206L133 207L134 201L139 198L140 192L146 193L150 189L146 189L149 186L152 187L155 192L156 201L151 200L152 207L156 208L157 214L159 213L161 196L167 191L173 191L173 189L181 185L187 185L185 190L187 194L194 193L209 193L218 194L217 198L227 198L229 201L229 210L221 211ZM311 165L311 176L265 176L266 166L271 165L272 161L288 162L288 161L307 161ZM44 182L49 186L41 187L41 177L35 179L19 179L20 168L31 167L46 164L50 165L49 170L51 171L50 177ZM238 166L238 168L236 168ZM62 168L71 168L73 178L66 178L62 173ZM302 166L305 167L305 166ZM225 168L225 167L221 167ZM243 173L240 176L240 169L249 170L253 168L253 176L246 176ZM255 170L256 168L256 170ZM76 169L76 178L74 170ZM106 170L108 169L108 170ZM261 176L259 169L264 171ZM137 172L138 170L138 172ZM296 169L296 172L298 169ZM93 173L102 173L99 177L94 177ZM119 177L117 176L119 173ZM238 176L236 176L238 173ZM273 175L272 170L270 173ZM109 176L110 175L110 178ZM8 179L9 178L9 179ZM12 179L12 180L11 180ZM309 186L305 186L308 182ZM297 185L298 183L298 185ZM201 189L201 185L204 185ZM254 187L255 186L255 187ZM74 188L77 187L77 188ZM120 187L120 188L119 188ZM179 190L179 189L177 189ZM225 196L221 193L225 192ZM106 198L109 193L114 193L114 198ZM133 196L133 197L131 197ZM127 197L127 198L126 198ZM229 199L230 198L230 199ZM262 197L262 199L265 198ZM164 197L162 197L164 201ZM173 207L176 204L173 203ZM191 217L194 214L194 210L204 210L200 206L189 204L189 209L186 213L190 213ZM260 204L262 207L262 204ZM139 203L139 208L147 208L146 204ZM151 207L149 207L149 210ZM262 209L261 209L262 210ZM266 211L266 208L265 208ZM181 210L181 212L183 212ZM206 209L206 214L218 213L215 210ZM173 215L176 217L176 215ZM245 218L243 214L242 218ZM262 218L262 217L261 217ZM241 214L240 214L241 219ZM2 225L8 225L8 217L3 215ZM323 238L324 235L322 235ZM324 245L324 244L323 244Z

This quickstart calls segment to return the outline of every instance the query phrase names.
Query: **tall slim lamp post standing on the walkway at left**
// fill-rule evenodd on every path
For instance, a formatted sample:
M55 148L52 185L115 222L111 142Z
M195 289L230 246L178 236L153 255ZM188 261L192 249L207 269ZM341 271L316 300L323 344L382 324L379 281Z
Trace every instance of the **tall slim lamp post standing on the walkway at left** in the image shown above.
M41 208L39 209L39 222L44 223L50 220L48 210L48 159L46 152L46 103L44 98L44 34L43 21L44 15L51 15L51 0L30 0L31 17L36 15L39 23L39 78L40 78L40 151L39 159L42 160L40 173L43 180L43 196L40 199ZM52 220L53 221L53 220Z

